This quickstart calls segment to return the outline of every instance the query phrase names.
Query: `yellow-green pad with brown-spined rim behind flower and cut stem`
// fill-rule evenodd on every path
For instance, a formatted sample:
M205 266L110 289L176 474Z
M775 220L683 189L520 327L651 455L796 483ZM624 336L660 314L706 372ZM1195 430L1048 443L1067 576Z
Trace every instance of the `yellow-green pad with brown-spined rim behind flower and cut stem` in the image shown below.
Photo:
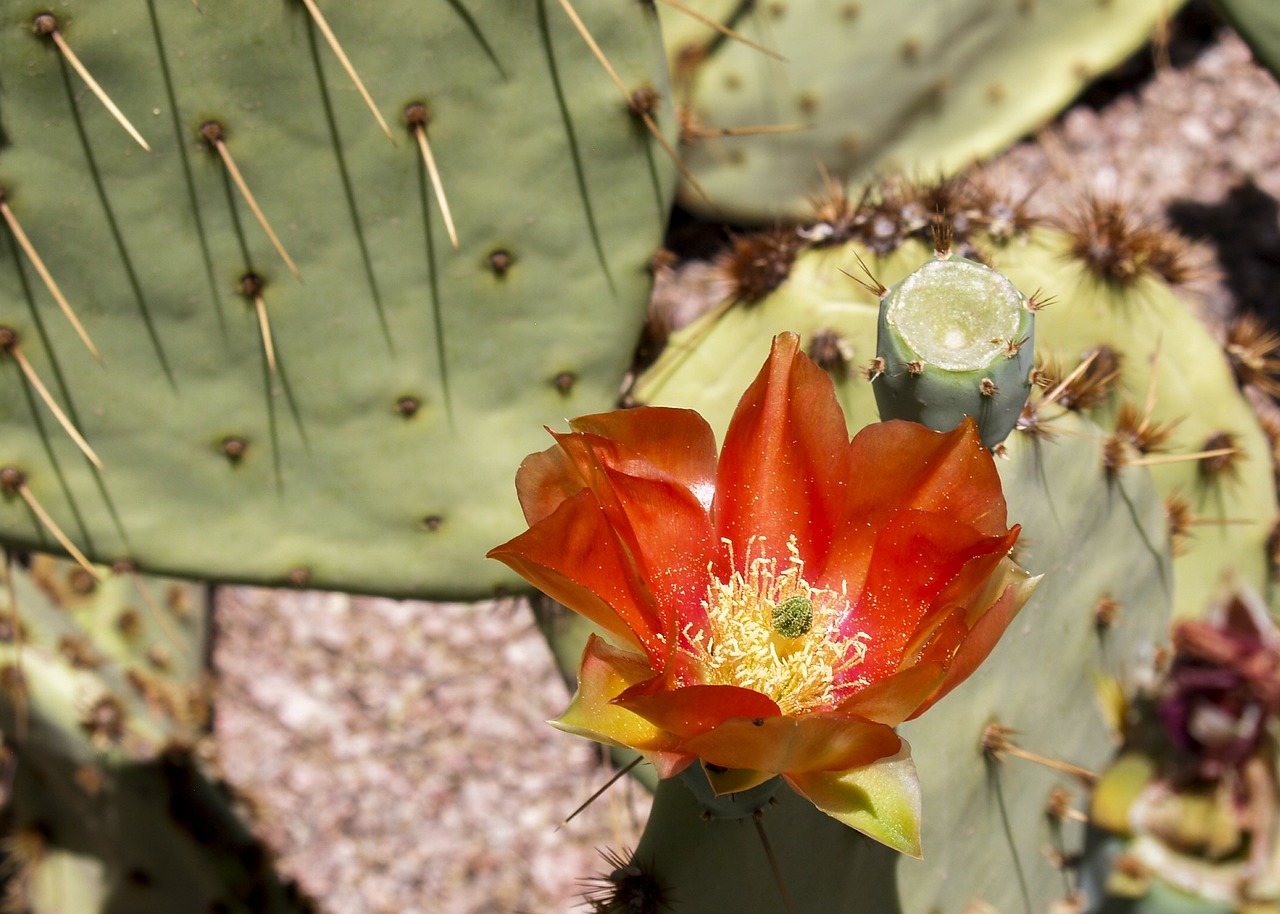
M1162 498L1189 504L1194 522L1183 554L1174 562L1175 612L1201 616L1225 575L1239 573L1260 588L1266 581L1266 543L1277 516L1270 445L1236 389L1221 346L1187 300L1146 275L1126 287L1107 284L1068 251L1068 237L1044 228L987 250L992 264L1018 288L1041 301L1052 298L1037 314L1041 361L1057 361L1060 374L1065 374L1100 344L1120 353L1120 389L1092 410L1092 417L1110 433L1121 401L1133 405L1140 419L1151 396L1147 425L1160 429L1172 424L1165 452L1140 456L1123 449L1125 460L1199 452L1224 433L1238 451L1229 467L1216 475L1196 460L1151 467ZM861 370L870 367L876 356L878 302L851 277L863 275L861 257L876 279L888 285L928 256L929 251L915 242L884 257L855 245L808 251L797 257L787 282L764 301L708 316L678 332L662 358L640 378L634 394L641 402L695 408L713 428L723 429L737 396L759 370L760 348L774 334L795 330L810 352L820 338L841 341L847 379L837 384L837 392L850 425L874 421L872 384ZM1130 547L1138 548L1125 548Z

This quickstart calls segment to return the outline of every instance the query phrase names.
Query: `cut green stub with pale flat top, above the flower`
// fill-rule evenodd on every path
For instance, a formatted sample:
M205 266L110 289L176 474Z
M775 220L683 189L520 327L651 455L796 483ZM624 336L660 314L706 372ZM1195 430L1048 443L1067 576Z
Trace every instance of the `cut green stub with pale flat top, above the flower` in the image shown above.
M881 300L873 380L881 419L950 431L973 416L982 443L1009 437L1030 394L1034 311L1002 274L934 257Z

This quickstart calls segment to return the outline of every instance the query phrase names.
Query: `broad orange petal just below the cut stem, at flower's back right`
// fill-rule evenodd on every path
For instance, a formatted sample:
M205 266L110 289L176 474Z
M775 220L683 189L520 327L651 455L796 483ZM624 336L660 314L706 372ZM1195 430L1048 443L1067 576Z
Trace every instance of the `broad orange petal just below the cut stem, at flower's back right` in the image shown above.
M945 433L902 420L868 425L849 454L849 522L891 504L963 520L987 535L1007 529L1000 475L972 419Z

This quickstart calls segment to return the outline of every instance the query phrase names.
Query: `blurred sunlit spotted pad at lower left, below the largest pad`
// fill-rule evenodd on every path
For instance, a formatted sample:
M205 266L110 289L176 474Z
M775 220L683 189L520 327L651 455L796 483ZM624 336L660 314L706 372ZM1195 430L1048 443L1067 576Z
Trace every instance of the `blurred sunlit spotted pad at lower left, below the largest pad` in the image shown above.
M12 603L0 570L0 728L19 750L115 764L196 741L210 712L202 588L102 567L95 582L42 556L10 572Z

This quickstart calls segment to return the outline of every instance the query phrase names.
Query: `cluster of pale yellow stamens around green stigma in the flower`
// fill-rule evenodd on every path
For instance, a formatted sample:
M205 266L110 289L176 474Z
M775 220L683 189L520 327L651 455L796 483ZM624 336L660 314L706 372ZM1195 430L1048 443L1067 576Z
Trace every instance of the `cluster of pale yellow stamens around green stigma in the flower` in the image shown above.
M748 544L745 571L737 571L733 547L727 581L707 588L707 630L685 631L686 650L701 664L705 681L753 689L778 703L783 714L832 707L836 676L863 662L867 632L851 637L838 630L849 609L841 593L814 588L804 577L796 539L787 543L785 567L777 558L751 557L762 538Z

